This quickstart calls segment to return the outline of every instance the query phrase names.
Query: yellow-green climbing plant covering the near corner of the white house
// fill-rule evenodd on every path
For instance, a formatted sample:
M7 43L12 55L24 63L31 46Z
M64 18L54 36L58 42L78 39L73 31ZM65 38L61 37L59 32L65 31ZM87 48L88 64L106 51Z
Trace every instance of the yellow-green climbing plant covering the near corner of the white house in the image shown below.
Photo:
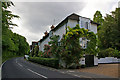
M80 38L85 37L87 42L87 48L84 50L80 45ZM76 25L73 28L68 26L67 33L61 40L63 47L61 47L61 59L66 62L66 68L72 63L79 64L80 58L84 54L96 55L96 43L97 38L93 32L89 32L87 29L80 28Z

